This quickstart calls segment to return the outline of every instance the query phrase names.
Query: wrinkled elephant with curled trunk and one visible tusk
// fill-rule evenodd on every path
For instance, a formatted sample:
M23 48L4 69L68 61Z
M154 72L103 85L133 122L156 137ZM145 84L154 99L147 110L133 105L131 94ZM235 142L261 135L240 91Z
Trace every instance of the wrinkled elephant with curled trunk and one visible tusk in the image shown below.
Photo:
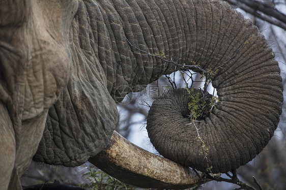
M164 52L172 61L156 56ZM116 103L185 66L217 72L219 103L197 122L212 173L251 161L273 136L283 102L280 69L264 36L215 0L5 0L0 6L0 183L21 189L32 159L87 161L130 184L191 187L207 171L186 123L187 90L148 115L161 156L116 131ZM186 67L188 68L188 67ZM159 98L166 99L166 97ZM164 111L162 112L162 109ZM174 162L175 161L175 162Z

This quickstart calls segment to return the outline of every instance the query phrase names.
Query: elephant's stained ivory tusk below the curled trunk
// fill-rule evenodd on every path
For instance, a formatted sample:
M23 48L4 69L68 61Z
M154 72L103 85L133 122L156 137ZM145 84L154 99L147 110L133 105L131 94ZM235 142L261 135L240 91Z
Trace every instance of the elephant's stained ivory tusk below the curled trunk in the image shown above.
M89 162L107 174L143 188L188 188L202 181L189 167L148 152L113 131L109 144Z

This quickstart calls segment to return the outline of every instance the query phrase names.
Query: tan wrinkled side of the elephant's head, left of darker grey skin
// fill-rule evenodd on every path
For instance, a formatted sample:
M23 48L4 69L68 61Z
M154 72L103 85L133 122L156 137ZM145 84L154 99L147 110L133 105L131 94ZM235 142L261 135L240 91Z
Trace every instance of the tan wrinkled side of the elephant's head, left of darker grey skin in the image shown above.
M66 9L69 9L68 11ZM21 189L48 108L69 78L76 1L4 1L0 8L0 189Z

